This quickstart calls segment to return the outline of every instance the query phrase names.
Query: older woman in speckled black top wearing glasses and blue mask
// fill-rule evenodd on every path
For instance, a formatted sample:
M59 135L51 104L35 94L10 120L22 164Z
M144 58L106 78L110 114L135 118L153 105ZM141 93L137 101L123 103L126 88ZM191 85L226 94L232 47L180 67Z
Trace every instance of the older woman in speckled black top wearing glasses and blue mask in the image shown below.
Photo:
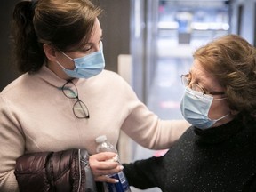
M256 191L256 50L220 37L196 50L181 76L192 126L165 156L124 164L130 184L166 192Z

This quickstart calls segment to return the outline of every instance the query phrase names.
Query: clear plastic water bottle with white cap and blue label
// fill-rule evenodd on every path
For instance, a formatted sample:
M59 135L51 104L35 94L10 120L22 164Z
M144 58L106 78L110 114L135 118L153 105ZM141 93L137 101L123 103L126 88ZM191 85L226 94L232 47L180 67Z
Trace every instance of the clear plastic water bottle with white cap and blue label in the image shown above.
M114 152L117 154L116 148L108 142L106 135L101 135L95 139L98 143L96 148L97 153L100 152ZM120 164L119 159L117 159ZM128 181L125 178L124 172L117 172L115 174L109 175L110 178L119 180L118 183L107 183L107 188L109 192L131 192Z

